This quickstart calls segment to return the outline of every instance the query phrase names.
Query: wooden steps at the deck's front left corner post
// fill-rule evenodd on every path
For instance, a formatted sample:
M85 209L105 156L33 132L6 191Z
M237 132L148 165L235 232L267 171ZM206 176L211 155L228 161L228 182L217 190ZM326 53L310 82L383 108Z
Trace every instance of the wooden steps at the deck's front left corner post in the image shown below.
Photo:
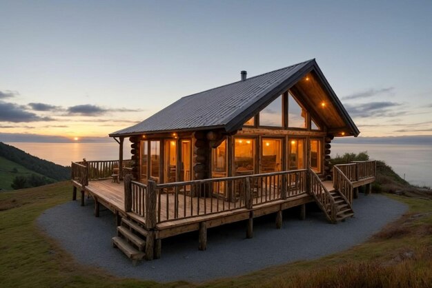
M132 259L132 264L144 258L146 249L146 238L148 232L134 220L121 218L121 225L117 227L117 236L112 237L112 246L119 248Z

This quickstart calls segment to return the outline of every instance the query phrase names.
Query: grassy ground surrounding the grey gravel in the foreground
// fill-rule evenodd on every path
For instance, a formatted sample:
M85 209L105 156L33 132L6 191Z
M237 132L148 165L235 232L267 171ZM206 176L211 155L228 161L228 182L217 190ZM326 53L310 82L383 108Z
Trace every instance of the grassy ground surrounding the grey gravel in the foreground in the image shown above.
M199 285L161 285L80 265L40 231L37 217L71 194L67 182L0 193L0 287L431 287L430 199L389 195L409 205L409 212L339 254Z

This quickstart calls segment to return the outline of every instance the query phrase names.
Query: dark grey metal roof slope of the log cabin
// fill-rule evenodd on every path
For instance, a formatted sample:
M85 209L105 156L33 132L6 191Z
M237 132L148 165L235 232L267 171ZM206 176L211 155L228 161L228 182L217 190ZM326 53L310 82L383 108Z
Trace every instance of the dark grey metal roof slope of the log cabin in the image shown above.
M271 101L269 97L284 92L282 90L286 89L286 85L295 84L314 65L317 64L312 59L184 96L141 123L113 132L110 136L212 128L224 128L232 132L253 116L252 110Z

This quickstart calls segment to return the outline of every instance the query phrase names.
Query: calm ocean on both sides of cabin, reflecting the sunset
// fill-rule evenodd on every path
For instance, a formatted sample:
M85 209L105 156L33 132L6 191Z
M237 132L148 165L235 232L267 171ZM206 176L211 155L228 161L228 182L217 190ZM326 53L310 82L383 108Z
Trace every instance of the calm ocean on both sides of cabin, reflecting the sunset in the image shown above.
M119 144L112 143L6 143L39 158L60 165L71 161L116 160ZM431 145L387 145L387 144L331 144L331 156L345 152L367 151L371 159L385 161L395 172L414 185L432 187ZM124 158L130 158L130 145L124 144Z

